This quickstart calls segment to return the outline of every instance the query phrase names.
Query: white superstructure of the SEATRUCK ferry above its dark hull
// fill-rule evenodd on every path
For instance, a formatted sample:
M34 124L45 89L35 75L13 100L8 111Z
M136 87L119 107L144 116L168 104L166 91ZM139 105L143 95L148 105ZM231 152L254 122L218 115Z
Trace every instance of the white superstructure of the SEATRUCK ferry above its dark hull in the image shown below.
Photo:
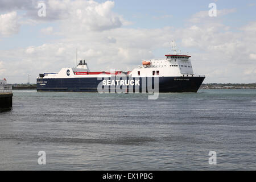
M132 77L193 77L194 75L189 55L177 53L177 47L172 46L174 54L165 55L163 59L143 60L142 65L133 71L123 72L90 72L85 61L80 61L76 68L63 68L59 73L44 73L44 78L83 78L111 77L111 75L126 75ZM40 78L40 77L39 77Z

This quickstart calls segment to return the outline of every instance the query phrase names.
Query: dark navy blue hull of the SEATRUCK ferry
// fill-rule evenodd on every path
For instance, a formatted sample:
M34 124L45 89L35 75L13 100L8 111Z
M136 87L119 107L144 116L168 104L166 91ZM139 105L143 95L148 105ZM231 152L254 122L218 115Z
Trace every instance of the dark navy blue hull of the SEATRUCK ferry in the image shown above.
M139 80L137 88L126 89L127 92L146 92L146 88L154 88L154 77L147 77L146 84L143 84L141 77L135 77L133 80ZM159 77L159 92L197 92L205 77ZM129 79L127 77L127 79ZM38 91L51 92L98 92L98 84L102 80L93 78L38 78ZM149 85L150 84L150 85ZM121 86L122 88L123 86ZM139 89L138 89L139 87ZM110 88L110 86L109 86ZM120 86L119 86L120 88ZM127 88L127 86L125 86ZM110 89L109 89L110 91Z

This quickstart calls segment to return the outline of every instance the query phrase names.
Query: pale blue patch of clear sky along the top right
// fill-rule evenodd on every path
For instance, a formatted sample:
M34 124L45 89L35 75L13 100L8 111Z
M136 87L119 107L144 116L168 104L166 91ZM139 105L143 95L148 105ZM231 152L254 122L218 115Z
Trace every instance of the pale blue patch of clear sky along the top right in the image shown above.
M255 1L115 1L115 12L122 14L125 19L134 22L131 27L159 28L164 26L184 27L186 20L199 11L209 10L209 3L216 3L217 9L237 9L237 13L227 15L224 19L229 26L237 27L250 20L255 20ZM173 18L154 19L163 15ZM137 18L139 17L139 18Z

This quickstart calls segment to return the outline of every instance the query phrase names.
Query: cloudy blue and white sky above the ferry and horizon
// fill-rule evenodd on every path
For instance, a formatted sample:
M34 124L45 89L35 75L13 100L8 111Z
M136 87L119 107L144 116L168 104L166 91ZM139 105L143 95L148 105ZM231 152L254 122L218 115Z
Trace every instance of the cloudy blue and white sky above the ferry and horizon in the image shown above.
M249 0L0 0L0 79L36 83L75 67L76 49L91 71L131 71L174 40L204 83L256 82L255 10Z

